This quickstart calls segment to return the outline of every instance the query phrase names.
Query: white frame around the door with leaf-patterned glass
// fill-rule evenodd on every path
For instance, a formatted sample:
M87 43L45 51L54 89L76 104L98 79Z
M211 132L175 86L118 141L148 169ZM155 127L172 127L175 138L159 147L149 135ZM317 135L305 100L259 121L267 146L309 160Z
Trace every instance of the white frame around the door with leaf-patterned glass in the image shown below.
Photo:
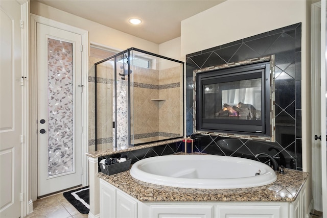
M66 25L48 18L38 15L30 14L31 19L31 40L30 40L30 133L31 143L31 199L37 199L37 51L36 51L36 24L42 23L65 31L73 32L81 35L81 42L83 46L82 52L82 185L88 185L88 159L85 153L88 152L88 31L76 27Z

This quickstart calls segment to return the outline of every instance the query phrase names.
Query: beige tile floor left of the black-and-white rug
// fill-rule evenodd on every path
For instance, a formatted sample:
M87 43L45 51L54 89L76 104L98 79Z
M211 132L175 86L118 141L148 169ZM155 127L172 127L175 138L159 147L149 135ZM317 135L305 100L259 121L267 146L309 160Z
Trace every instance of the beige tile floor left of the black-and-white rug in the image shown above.
M55 195L38 199L33 202L33 212L26 216L27 218L82 218L88 217L88 214L80 213L73 205L71 205L63 192Z

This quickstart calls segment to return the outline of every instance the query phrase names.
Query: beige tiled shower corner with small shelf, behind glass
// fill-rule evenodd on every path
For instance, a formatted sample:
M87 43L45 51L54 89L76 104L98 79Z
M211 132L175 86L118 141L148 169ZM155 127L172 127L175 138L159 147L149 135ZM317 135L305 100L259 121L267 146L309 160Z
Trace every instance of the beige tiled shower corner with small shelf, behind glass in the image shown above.
M181 136L182 67L155 70L133 66L133 71L134 138L160 140Z

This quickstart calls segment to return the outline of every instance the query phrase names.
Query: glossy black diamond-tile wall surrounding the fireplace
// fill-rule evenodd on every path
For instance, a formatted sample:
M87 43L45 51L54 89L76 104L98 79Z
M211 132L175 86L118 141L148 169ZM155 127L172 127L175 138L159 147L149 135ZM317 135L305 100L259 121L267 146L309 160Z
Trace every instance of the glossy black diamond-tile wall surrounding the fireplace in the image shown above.
M276 142L193 134L193 70L271 54L275 55ZM265 152L287 168L302 170L301 23L186 55L186 134L196 139L198 152L249 159Z

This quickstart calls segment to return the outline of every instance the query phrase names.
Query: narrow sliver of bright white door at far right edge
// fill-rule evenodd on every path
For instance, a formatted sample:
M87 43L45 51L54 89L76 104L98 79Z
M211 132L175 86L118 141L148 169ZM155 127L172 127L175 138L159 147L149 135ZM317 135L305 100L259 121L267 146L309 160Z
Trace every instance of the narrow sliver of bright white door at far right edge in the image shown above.
M322 212L327 214L327 21L326 1L321 1L321 176L322 176Z

